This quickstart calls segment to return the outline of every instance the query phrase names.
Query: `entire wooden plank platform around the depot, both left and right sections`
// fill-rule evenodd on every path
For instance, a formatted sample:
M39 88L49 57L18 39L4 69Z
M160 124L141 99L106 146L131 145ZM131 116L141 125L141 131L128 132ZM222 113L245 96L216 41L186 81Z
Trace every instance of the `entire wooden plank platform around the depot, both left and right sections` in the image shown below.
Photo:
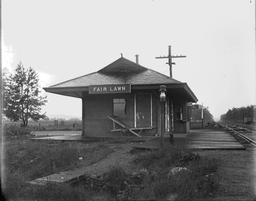
M189 148L198 149L245 149L225 128L197 129L191 130L190 133L174 133L175 145L186 145ZM105 141L111 138L124 138L121 135L98 135L98 136L81 136L80 134L49 136L30 138L30 140L59 140L59 141L79 141L79 142L97 142ZM142 142L134 145L134 149L159 149L160 137L155 136L129 136L124 138L127 141ZM169 135L164 137L164 145L170 146Z

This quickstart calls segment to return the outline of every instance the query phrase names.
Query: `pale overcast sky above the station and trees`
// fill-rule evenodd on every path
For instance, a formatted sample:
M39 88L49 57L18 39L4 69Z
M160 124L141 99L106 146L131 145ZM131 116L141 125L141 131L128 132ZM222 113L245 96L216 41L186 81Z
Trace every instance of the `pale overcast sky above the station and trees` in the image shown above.
M256 104L255 1L2 0L2 67L35 68L42 87L123 57L186 82L214 118ZM43 92L47 114L82 116L82 101Z

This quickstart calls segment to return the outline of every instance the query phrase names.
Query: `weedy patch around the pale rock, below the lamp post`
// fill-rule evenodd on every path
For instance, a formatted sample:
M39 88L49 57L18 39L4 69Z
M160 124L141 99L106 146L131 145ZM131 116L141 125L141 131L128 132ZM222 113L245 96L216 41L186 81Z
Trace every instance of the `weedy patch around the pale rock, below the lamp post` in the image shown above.
M135 171L131 176L134 180L124 182L126 188L119 191L120 200L202 200L219 187L213 174L218 169L218 161L201 159L197 152L185 147L170 147L163 157L158 150L138 153L134 161L141 165L153 163L153 166ZM155 164L163 170L155 172ZM187 170L169 174L177 164L186 166Z

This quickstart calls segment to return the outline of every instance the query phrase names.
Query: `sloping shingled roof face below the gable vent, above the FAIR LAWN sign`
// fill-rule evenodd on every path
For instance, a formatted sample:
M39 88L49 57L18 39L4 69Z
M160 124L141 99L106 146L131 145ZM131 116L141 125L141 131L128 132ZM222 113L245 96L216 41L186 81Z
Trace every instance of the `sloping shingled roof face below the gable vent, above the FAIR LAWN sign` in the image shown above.
M72 80L53 85L51 87L76 87L104 84L161 84L161 83L180 83L171 77L151 69L124 72L95 72Z

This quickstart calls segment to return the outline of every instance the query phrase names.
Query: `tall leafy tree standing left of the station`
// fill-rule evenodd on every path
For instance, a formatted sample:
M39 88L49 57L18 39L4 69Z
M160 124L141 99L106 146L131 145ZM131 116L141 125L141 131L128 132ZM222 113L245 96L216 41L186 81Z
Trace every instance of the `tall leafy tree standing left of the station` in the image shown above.
M45 114L39 114L41 106L48 101L47 96L40 96L38 73L31 67L26 69L21 61L18 63L15 74L6 79L5 100L3 113L12 121L22 121L27 126L30 119L38 121L44 119Z

